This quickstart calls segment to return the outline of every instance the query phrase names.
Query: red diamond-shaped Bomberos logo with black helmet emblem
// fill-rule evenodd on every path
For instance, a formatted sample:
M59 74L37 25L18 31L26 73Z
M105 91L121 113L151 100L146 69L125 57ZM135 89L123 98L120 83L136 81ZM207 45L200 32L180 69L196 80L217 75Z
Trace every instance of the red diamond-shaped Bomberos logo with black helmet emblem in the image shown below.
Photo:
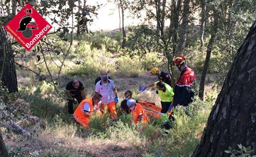
M18 42L29 51L52 26L27 4L14 18L5 26Z

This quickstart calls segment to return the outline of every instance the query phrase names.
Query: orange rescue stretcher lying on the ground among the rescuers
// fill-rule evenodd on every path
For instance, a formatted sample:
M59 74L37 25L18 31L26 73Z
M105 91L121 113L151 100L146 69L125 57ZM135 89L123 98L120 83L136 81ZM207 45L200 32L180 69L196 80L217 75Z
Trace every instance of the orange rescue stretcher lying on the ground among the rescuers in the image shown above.
M161 107L155 106L154 102L148 101L138 101L138 103L144 108L147 115L152 115L153 117L161 118ZM172 110L168 112L168 116L171 115Z

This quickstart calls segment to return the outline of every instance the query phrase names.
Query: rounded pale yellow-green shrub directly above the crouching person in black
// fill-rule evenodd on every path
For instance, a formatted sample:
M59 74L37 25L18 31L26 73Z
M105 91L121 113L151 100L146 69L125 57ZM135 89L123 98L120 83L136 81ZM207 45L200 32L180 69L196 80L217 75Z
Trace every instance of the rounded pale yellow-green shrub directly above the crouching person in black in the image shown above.
M117 61L117 74L121 77L137 77L142 70L142 63L139 58L121 56Z

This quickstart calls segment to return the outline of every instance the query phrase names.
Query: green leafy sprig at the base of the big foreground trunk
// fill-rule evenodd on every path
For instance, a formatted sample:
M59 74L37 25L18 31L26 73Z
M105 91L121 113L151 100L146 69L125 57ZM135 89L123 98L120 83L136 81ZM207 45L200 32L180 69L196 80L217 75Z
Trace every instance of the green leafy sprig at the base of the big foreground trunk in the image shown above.
M230 157L256 157L256 155L251 155L254 150L251 150L251 146L245 147L242 144L238 144L238 150L231 147L224 151L225 153L231 154Z

